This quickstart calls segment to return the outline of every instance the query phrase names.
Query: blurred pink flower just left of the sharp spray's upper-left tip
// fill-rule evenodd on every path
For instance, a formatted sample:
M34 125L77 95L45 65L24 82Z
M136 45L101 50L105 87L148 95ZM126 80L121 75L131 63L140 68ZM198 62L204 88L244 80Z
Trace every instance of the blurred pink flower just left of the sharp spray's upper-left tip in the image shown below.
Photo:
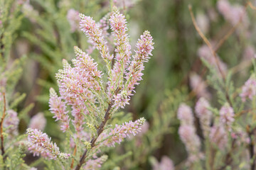
M73 9L73 8L68 10L67 19L68 19L68 22L70 23L72 33L75 32L75 30L79 30L80 18L79 18L78 11L75 11L75 9Z

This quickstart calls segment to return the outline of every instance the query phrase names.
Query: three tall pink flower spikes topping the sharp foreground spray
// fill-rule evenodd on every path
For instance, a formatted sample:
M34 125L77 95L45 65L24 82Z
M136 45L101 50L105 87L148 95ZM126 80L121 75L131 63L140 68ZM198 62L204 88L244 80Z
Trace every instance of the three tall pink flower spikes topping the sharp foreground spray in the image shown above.
M139 84L138 81L142 80L142 70L144 69L144 62L149 60L149 55L154 49L149 31L145 31L141 38L137 42L136 54L133 56L133 60L130 61L131 45L129 45L127 35L127 21L121 13L114 9L114 12L110 16L110 28L112 29L112 35L114 36L114 45L116 46L114 52L116 52L115 62L113 69L110 68L110 60L114 57L110 55L110 50L107 47L107 42L104 40L104 34L102 30L97 26L95 21L89 16L80 14L80 28L92 41L97 50L100 51L102 58L107 62L107 69L109 73L109 82L107 87L107 94L109 98L114 96L115 108L124 108L129 103L129 97L132 96L134 86ZM110 70L111 69L111 70ZM125 75L125 77L124 77ZM124 81L126 80L125 84ZM115 91L119 89L119 93Z

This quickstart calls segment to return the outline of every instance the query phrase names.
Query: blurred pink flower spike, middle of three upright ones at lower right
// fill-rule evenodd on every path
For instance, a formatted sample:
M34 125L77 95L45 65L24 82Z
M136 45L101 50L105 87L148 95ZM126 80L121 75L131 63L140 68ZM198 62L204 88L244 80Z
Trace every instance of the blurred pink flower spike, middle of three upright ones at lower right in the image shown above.
M213 115L213 113L208 110L209 107L210 103L208 103L205 98L200 98L195 107L196 116L199 118L204 137L208 137L209 135L210 120Z

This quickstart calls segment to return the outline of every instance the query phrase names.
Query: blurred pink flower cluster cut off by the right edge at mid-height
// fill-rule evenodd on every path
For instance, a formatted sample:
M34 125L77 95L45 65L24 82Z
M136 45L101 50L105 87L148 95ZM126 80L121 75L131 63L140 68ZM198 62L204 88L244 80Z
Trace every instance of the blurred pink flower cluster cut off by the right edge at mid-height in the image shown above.
M245 85L242 86L242 92L240 93L240 97L242 101L245 102L246 98L252 100L252 98L256 95L256 79L254 76L250 77L245 82Z

